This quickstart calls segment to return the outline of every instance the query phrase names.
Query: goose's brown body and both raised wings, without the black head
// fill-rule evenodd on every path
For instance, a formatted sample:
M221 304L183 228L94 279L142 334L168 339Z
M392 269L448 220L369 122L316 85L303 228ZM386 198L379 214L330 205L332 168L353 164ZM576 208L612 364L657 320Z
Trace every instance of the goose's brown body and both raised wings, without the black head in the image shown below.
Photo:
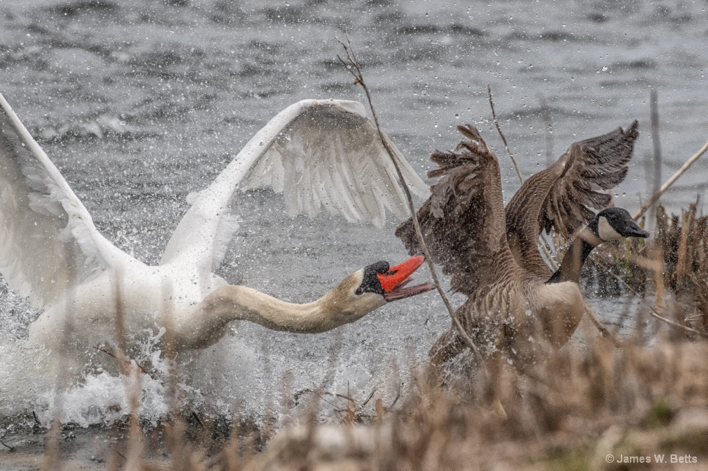
M496 156L474 127L458 129L468 139L455 152L431 156L440 168L428 175L441 178L418 210L418 220L433 261L452 276L451 288L468 296L455 316L481 354L503 352L515 364L527 364L540 350L561 347L573 335L585 310L577 283L580 267L600 243L583 231L564 260L562 279L548 283L552 272L538 252L538 237L544 228L569 237L595 216L588 207L610 203L603 190L627 173L636 122L627 132L620 128L573 144L554 165L527 180L506 211ZM396 236L409 252L421 250L410 219ZM462 349L464 342L451 328L430 357L442 364Z

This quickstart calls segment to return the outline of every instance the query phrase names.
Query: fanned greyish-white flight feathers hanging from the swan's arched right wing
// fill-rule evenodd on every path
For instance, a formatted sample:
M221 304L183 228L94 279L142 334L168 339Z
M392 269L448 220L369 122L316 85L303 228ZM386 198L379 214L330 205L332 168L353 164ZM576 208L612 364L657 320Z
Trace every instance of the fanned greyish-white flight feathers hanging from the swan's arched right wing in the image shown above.
M416 194L426 196L423 181L386 139L406 182ZM399 182L393 175L393 164L375 124L361 104L323 101L304 107L280 129L261 161L241 183L241 190L270 186L275 192L283 192L290 216L316 216L324 206L349 221L371 221L382 226L386 209L401 218L406 214ZM285 179L282 184L280 178Z

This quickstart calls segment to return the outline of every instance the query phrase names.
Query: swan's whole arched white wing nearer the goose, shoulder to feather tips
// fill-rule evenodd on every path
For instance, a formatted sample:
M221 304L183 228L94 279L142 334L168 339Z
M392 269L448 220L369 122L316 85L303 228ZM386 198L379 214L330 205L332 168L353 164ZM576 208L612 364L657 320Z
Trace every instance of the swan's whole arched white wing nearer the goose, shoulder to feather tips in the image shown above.
M428 188L394 150L406 182L421 196ZM315 216L324 207L348 221L382 226L386 210L406 214L396 171L361 103L303 100L263 127L226 169L198 194L170 239L162 262L188 257L210 271L222 262L236 230L229 202L237 188L273 187L290 216Z

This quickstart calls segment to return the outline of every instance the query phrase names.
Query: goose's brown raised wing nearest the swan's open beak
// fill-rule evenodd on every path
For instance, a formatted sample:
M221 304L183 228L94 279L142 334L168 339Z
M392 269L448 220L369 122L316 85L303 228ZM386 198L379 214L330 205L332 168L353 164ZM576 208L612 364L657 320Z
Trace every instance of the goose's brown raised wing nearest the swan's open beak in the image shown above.
M430 257L452 275L451 287L468 296L481 286L518 269L506 240L501 174L496 156L469 124L458 127L467 137L455 152L435 152L430 159L440 176L430 198L418 209L418 221ZM411 255L420 253L413 221L399 226Z

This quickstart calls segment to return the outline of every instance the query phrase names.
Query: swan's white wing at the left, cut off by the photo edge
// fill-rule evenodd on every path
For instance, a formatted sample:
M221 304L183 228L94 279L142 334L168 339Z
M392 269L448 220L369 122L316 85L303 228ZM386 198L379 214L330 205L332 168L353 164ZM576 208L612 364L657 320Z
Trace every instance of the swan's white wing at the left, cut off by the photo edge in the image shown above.
M0 273L11 289L42 308L122 256L0 95Z

